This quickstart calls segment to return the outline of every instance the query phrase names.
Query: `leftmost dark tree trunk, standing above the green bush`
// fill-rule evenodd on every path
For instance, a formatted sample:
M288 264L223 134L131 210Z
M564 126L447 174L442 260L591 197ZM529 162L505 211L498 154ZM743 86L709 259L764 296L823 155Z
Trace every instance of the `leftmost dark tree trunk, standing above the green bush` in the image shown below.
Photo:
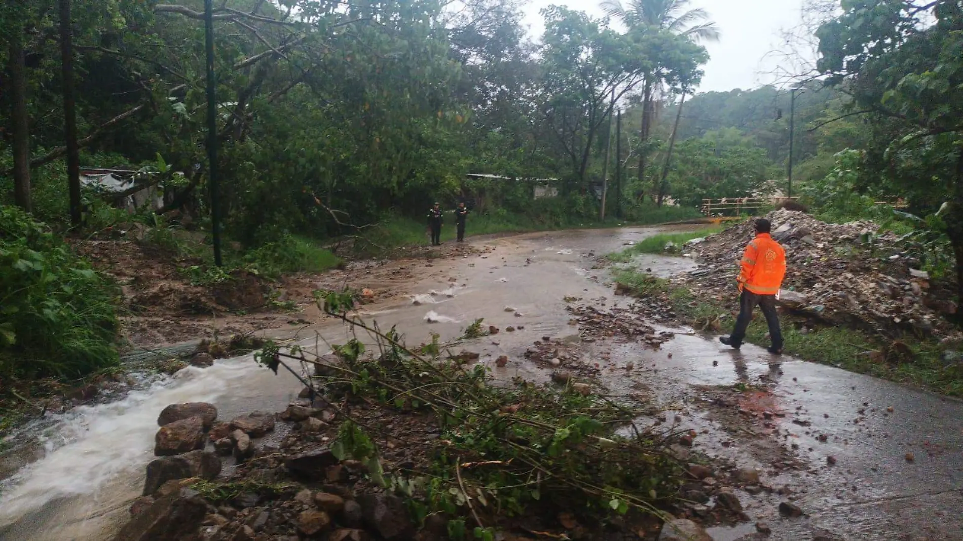
M27 73L23 56L23 33L11 29L10 69L11 119L13 123L13 202L28 213L30 202L30 123L27 116Z

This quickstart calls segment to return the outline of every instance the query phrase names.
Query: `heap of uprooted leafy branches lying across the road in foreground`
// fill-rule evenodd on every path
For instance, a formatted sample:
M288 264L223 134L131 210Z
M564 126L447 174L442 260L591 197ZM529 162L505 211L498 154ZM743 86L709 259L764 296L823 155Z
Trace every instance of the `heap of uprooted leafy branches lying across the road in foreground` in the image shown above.
M671 434L635 425L640 413L631 402L520 378L493 384L484 366L462 366L437 335L415 350L394 328L382 332L350 317L351 294L327 293L319 302L351 325L354 339L333 347L334 355L269 344L257 359L275 373L283 367L298 375L293 361L322 374L301 379L346 420L332 451L365 462L371 480L407 497L416 518L444 512L453 538L474 524L476 537L490 539L507 517L565 511L599 525L612 514L661 515L674 498L682 470L664 451ZM372 339L371 350L359 331ZM429 464L385 476L375 438L347 405L361 400L433 414L440 437L418 443L429 446Z

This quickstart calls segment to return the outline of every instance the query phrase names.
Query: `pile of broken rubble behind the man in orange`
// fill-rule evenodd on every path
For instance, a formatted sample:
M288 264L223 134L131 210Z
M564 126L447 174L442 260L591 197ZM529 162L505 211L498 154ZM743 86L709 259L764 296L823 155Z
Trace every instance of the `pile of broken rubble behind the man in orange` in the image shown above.
M786 249L780 302L815 320L863 328L886 337L903 331L945 336L955 295L934 284L907 248L907 236L878 232L872 221L824 223L779 209L766 217L772 238ZM687 248L700 263L677 279L698 297L731 300L742 250L753 238L746 221Z

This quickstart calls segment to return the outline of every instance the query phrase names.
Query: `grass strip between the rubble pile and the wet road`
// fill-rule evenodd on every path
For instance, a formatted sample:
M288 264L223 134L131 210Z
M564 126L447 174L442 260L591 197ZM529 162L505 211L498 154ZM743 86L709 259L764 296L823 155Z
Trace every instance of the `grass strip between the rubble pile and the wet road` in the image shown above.
M728 330L734 323L735 314L732 311L738 309L735 289L731 304L726 305L698 298L685 285L636 270L620 271L615 282L633 296L664 303L683 322L717 333ZM724 317L720 318L722 315ZM795 315L783 314L780 319L788 355L950 397L963 397L963 365L947 365L933 340L903 337L900 344L904 344L911 354L903 356L902 361L905 362L900 362L895 355L886 355L896 344L880 341L862 330L822 324L811 328L806 318ZM807 330L803 331L803 328ZM749 324L745 340L749 344L768 347L767 333L766 321L757 313L757 317ZM880 361L879 355L861 354L867 351L879 351L890 360ZM907 360L907 357L912 360Z

